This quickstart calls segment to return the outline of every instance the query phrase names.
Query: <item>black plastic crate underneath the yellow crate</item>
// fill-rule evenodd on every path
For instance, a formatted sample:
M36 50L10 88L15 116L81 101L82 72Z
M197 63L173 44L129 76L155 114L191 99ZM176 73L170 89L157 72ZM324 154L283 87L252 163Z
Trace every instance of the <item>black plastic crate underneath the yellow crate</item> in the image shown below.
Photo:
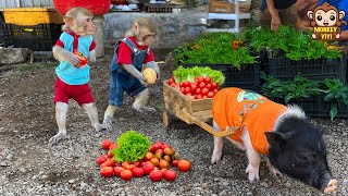
M29 48L34 51L50 51L61 35L61 25L39 24L33 26L20 26L1 24L5 46L16 48Z

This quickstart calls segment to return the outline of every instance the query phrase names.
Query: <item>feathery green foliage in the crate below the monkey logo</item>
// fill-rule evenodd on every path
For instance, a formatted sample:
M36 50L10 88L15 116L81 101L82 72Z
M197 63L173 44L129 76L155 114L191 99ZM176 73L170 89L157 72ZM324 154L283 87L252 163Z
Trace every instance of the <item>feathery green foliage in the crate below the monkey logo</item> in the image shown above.
M341 51L327 49L323 41L312 39L311 32L300 32L293 26L281 25L277 33L269 27L249 27L241 38L250 41L254 52L268 49L272 57L281 54L290 60L341 57Z

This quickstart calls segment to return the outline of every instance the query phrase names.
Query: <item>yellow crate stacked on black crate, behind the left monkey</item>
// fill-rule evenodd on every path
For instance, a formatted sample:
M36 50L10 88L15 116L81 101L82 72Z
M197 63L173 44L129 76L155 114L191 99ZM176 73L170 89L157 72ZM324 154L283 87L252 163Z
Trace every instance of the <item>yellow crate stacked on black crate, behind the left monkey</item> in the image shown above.
M49 51L59 39L62 24L63 15L54 8L4 9L4 45Z

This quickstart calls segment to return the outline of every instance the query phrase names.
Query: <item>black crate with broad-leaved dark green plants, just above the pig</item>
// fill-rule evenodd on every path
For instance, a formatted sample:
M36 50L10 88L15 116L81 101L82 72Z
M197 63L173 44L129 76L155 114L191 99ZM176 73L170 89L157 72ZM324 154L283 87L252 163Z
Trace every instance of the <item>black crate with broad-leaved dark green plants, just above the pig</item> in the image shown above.
M348 118L348 86L337 78L315 81L297 76L281 81L261 73L262 94L281 103L296 103L308 115Z

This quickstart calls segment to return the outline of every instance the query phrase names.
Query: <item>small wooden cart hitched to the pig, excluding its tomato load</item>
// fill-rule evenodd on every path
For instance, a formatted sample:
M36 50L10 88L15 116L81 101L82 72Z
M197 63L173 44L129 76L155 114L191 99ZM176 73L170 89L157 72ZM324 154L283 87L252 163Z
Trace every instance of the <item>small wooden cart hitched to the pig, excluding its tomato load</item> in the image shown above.
M194 99L185 96L177 88L173 88L163 81L164 109L162 113L163 124L169 127L171 115L185 121L187 124L197 124L216 137L224 137L233 134L238 127L227 127L224 131L216 131L207 122L212 120L212 98Z

